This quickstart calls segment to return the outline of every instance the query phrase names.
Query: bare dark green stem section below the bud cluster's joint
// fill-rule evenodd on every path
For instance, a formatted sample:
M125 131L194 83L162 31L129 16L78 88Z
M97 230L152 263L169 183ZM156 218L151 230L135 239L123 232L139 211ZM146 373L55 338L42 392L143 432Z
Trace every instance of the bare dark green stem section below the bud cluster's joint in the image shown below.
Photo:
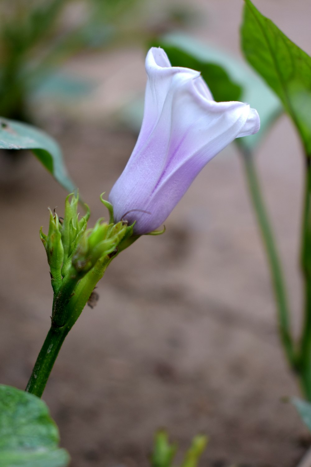
M28 381L26 387L27 392L35 394L35 396L38 397L42 396L58 352L70 328L69 325L62 327L51 326Z

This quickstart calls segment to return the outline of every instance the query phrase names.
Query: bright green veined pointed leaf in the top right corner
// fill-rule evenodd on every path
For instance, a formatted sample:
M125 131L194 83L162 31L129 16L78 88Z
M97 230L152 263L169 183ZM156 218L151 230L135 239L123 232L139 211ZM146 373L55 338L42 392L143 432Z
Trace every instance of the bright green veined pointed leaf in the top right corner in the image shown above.
M283 102L311 156L311 57L245 0L241 28L246 59Z

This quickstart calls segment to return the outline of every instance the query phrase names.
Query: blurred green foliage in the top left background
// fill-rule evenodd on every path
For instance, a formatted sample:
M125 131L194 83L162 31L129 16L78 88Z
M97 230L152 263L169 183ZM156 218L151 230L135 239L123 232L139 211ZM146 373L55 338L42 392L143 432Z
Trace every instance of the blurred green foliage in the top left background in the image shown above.
M32 99L76 97L91 84L59 68L83 51L120 47L180 27L194 13L165 7L146 22L142 0L2 0L0 3L0 115L34 121ZM148 14L147 16L152 17Z

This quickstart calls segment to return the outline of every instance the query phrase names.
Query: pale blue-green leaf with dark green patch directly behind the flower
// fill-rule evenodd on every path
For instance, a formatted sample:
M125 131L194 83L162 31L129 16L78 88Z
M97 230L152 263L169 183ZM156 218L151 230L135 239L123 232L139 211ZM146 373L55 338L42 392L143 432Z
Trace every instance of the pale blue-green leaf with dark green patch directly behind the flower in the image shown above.
M202 73L202 76L214 93L215 100L235 100L237 98L236 86L238 85L242 89L238 100L249 103L258 111L261 128L257 134L240 138L238 141L248 149L255 149L266 131L282 112L279 100L262 79L238 58L232 57L214 45L204 44L185 34L165 35L155 42L155 45L162 47L174 64L177 64L177 58L180 58L174 51L176 49L179 55L184 54L182 66L191 68L193 62L189 61L187 65L186 57L192 57L192 60L195 60L195 69L207 71L204 72L204 75ZM223 68L221 85L218 83L216 73L208 73L208 66L211 64Z

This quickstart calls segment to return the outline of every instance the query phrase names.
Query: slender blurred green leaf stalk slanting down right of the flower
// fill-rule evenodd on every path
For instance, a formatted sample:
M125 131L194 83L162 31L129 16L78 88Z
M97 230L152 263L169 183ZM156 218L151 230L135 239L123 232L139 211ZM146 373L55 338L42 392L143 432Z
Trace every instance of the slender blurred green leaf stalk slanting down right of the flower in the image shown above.
M274 239L269 216L264 205L253 156L249 150L244 149L242 146L239 146L239 149L241 150L242 154L250 198L254 206L263 245L266 250L267 259L269 262L271 281L273 284L274 296L276 300L277 319L281 342L283 344L284 352L291 368L296 371L297 357L290 331L290 308L287 299L281 261L276 249L276 241Z

